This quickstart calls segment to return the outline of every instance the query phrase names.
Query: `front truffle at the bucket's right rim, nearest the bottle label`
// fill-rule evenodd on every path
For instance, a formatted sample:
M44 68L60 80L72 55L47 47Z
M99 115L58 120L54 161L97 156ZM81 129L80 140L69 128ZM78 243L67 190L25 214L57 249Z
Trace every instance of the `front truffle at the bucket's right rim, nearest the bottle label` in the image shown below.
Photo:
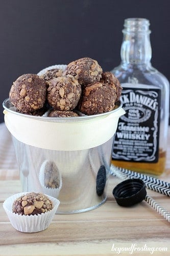
M117 97L110 84L94 83L84 88L79 110L87 115L100 114L114 109Z

